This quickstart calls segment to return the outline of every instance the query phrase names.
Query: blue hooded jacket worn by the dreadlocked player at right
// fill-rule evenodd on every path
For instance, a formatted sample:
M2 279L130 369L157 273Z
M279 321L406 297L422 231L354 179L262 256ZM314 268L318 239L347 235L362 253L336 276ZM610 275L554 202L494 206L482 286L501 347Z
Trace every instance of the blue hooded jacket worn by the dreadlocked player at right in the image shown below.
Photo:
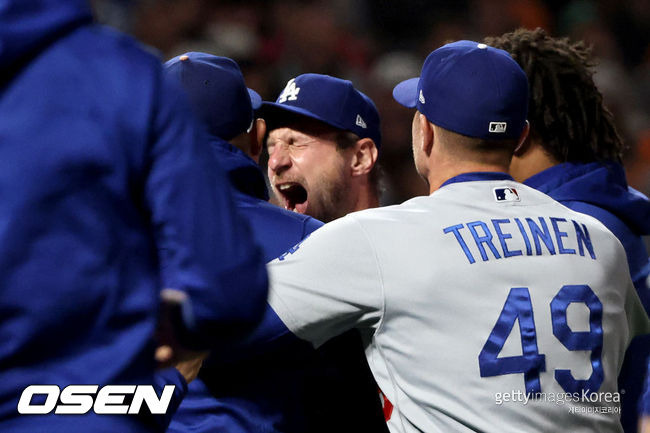
M650 235L650 201L628 187L623 167L613 163L563 163L524 183L568 208L593 216L616 235L627 253L637 293L650 314L650 262L641 239ZM621 394L621 422L628 433L636 431L637 405L649 355L650 336L633 340L619 377L619 387L625 390Z

